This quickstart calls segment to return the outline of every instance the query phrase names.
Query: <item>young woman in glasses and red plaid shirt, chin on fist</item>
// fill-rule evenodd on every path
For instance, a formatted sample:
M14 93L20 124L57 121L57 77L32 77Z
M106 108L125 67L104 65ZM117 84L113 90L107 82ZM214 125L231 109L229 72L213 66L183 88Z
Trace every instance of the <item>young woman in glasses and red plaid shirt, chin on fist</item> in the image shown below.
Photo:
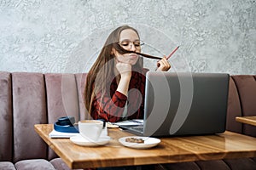
M141 52L143 42L131 26L120 26L110 33L85 84L85 107L93 119L119 122L143 118L145 74L135 53L122 54L116 45ZM166 56L157 62L157 71L168 71Z

